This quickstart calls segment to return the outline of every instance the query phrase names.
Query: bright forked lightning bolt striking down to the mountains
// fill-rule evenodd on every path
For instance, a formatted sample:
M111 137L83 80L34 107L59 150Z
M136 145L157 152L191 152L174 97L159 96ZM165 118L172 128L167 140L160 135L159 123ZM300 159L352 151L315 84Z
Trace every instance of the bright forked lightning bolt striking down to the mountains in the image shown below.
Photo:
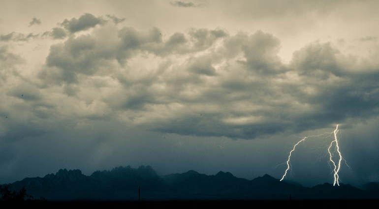
M339 183L339 175L338 175L338 172L341 170L341 161L342 161L342 159L343 159L343 157L342 157L342 154L341 154L341 151L340 151L340 147L339 147L339 145L338 145L338 139L337 139L337 133L338 133L338 126L339 126L339 124L337 124L337 127L336 127L336 129L333 131L333 132L331 132L331 133L323 133L323 134L320 134L320 135L313 135L313 136L306 136L306 137L304 137L303 139L301 139L300 141L298 141L294 146L293 146L293 148L292 148L292 150L289 152L289 154L288 154L288 159L287 159L287 161L286 161L286 164L287 164L287 168L285 169L285 171L284 171L284 175L283 175L283 177L282 177L282 179L280 179L280 181L282 181L283 179L284 179L284 177L287 175L287 172L289 171L289 169L290 169L290 160L291 160L291 156L292 156L292 152L294 152L295 151L295 149L296 149L296 146L297 145L299 145L301 142L304 142L307 138L309 138L309 137L318 137L318 136L322 136L322 135L324 135L324 134L330 134L330 135L332 135L332 134L334 134L334 140L330 143L330 145L329 145L329 147L328 147L328 153L329 153L329 160L330 160L330 162L332 162L332 164L333 164L333 166L334 166L334 169L333 169L333 172L334 172L334 175L333 175L333 177L334 177L334 181L333 181L333 186L335 186L336 184L339 186L340 185L340 183ZM332 152L330 151L330 149L333 147L333 144L336 144L336 151L337 151L337 153L338 153L338 155L339 155L339 159L338 159L338 163L336 164L336 162L333 160L333 154L332 154ZM345 159L344 159L345 160Z

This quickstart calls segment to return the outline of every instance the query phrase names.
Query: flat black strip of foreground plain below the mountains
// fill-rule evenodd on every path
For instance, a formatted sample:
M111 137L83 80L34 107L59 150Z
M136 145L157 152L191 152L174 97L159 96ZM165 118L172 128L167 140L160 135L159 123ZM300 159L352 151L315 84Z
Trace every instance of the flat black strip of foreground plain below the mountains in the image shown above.
M38 209L265 209L275 207L302 209L359 209L378 206L379 200L256 200L256 201L1 201L0 208L38 208Z

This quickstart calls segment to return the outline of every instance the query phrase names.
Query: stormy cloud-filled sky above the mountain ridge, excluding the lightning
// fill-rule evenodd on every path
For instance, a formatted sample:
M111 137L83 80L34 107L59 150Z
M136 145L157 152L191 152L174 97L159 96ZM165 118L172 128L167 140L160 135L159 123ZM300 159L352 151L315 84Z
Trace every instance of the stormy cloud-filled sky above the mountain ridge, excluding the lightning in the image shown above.
M0 183L126 165L280 179L337 124L341 182L379 181L378 9L1 0ZM332 140L300 144L286 179L332 182Z

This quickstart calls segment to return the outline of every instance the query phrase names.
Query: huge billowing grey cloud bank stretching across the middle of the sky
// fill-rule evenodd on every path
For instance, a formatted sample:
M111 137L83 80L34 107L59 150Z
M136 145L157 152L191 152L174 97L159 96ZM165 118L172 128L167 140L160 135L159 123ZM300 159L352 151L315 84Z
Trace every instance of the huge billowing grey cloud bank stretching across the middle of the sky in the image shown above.
M279 48L263 31L163 38L157 28L103 26L53 45L39 79L91 104L92 119L111 110L180 135L253 139L378 116L378 64L318 42L284 64Z

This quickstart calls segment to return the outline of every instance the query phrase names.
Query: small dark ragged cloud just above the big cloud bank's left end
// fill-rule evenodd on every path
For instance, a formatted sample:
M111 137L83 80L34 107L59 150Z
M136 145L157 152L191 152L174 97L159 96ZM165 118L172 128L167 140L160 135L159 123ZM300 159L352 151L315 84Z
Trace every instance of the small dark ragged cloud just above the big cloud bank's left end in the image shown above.
M81 30L87 30L90 28L94 28L97 25L102 25L106 23L106 20L104 20L101 17L95 17L93 14L86 13L82 16L80 16L78 19L71 18L71 20L65 19L61 26L65 28L66 30L70 32L77 32Z

